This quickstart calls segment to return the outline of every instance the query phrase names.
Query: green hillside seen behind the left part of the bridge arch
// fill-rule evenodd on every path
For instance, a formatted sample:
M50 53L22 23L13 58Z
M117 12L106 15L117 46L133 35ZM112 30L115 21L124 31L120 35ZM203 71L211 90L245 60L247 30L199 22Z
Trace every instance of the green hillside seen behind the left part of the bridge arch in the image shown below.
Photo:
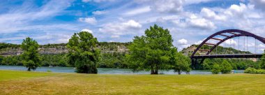
M192 54L192 52L194 50L196 50L196 48L198 47L199 45L190 45L190 47L187 47L187 48L183 48L183 50L181 50L181 52L185 55L188 55L190 56ZM204 50L210 50L210 48L213 47L211 45L203 45L201 47L201 49L204 49ZM217 48L217 50L216 50ZM206 54L206 51L197 51L196 53L197 55L202 55L202 54ZM241 51L241 50L236 50L232 47L222 47L222 46L218 46L218 47L215 47L215 49L211 52L211 54L251 54L251 52L245 52L245 51Z

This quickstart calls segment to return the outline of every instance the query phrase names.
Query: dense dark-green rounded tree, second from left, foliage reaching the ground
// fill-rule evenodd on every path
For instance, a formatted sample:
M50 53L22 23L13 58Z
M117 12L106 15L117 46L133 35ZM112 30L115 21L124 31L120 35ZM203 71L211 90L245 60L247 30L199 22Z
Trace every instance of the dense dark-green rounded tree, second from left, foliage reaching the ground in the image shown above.
M97 38L87 31L75 33L67 44L68 64L77 68L77 73L98 73L96 63L100 51L97 50Z

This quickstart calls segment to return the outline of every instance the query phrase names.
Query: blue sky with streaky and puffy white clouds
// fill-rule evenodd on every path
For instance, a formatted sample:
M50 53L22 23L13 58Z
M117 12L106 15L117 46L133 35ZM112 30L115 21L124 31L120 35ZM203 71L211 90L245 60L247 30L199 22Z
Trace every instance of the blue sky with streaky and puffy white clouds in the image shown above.
M1 0L0 42L68 43L79 31L105 42L129 42L153 24L169 29L182 50L217 31L241 29L265 37L265 0ZM239 50L255 40L226 42ZM245 40L244 40L245 41ZM244 42L243 41L243 42ZM257 43L257 52L265 45Z

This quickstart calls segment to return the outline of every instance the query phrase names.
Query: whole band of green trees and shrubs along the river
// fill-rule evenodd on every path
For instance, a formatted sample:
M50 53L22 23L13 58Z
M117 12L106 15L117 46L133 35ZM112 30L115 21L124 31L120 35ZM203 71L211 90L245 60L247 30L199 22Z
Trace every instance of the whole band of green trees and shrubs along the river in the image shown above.
M61 44L66 45L67 54L39 54L40 45L28 37L20 45L24 51L20 56L0 57L0 64L24 65L28 71L35 70L38 66L75 66L77 73L98 73L97 67L132 68L134 72L150 71L151 74L169 69L179 74L191 71L190 58L184 56L182 52L177 52L168 29L154 24L144 33L143 36L135 36L131 43L126 44L128 47L126 53L101 53L97 45L108 43L98 43L98 39L87 31L75 33L67 44ZM43 45L43 47L55 46ZM115 49L115 47L109 48ZM195 67L212 70L213 73L229 73L232 69L260 68L260 66L254 61L244 59L206 59L203 64L197 64Z

